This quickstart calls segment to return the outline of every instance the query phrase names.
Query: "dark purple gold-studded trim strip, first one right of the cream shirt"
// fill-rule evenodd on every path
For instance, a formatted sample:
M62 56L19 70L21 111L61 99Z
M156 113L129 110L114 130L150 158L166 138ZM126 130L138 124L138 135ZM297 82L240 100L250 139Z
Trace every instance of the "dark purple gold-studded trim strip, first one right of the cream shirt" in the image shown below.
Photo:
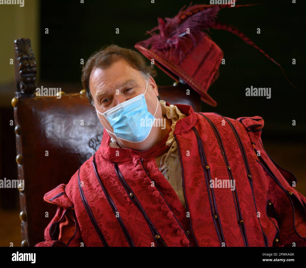
M211 178L210 177L210 172L206 171L205 168L204 168L204 166L207 165L207 160L206 160L206 156L205 156L205 152L204 152L204 148L203 148L203 144L202 144L202 139L201 139L201 137L200 137L196 127L192 127L192 130L193 130L193 132L194 132L194 134L196 136L196 140L197 140L197 144L198 144L199 155L200 155L200 159L201 159L203 173L204 173L204 176L205 176L205 183L206 183L206 188L207 188L207 194L208 194L209 204L210 204L210 208L211 208L212 220L213 220L214 225L215 225L215 229L216 229L216 232L217 232L217 236L218 236L220 245L222 246L222 242L224 242L225 245L226 245L226 241L225 241L225 239L223 237L222 225L221 225L220 217L219 217L219 214L218 214L217 204L215 202L214 189L209 187L209 183L207 181L208 180L207 173L208 173L209 179ZM210 194L210 191L211 191L211 194ZM211 200L211 195L213 196L213 201ZM214 206L212 205L212 202L214 202ZM216 215L218 217L218 222L219 222L221 234L219 232L219 229L218 229L218 226L217 226L217 222L216 222L216 219L215 219L214 209L215 209L215 213L216 213Z

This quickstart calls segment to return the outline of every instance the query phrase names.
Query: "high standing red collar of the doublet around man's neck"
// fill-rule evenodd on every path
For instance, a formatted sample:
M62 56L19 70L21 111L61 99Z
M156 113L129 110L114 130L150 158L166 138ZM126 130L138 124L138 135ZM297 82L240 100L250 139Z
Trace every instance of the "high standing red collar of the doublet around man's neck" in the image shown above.
M166 102L166 105L170 106L168 102ZM196 113L193 111L191 106L184 104L175 104L175 106L177 106L177 108L187 116L177 121L174 129L174 135L190 130L196 124L197 121ZM134 157L157 157L163 152L165 152L167 149L169 149L169 146L166 145L166 141L168 139L170 131L171 129L158 144L145 151L110 147L110 135L107 133L107 131L104 131L101 146L99 147L98 151L101 153L104 159L113 163L122 163L130 161Z

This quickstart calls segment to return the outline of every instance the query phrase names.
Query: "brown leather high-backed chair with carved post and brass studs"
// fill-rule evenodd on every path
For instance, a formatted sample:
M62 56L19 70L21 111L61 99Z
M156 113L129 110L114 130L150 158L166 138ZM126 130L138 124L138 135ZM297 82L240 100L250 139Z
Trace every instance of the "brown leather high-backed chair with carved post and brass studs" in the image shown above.
M43 241L44 228L56 206L43 195L71 176L99 148L103 126L88 104L84 90L56 96L35 96L36 62L29 39L18 39L15 49L14 107L22 246ZM181 88L183 87L183 88ZM188 104L200 111L200 96L184 85L159 87L162 100ZM49 217L45 217L45 213Z

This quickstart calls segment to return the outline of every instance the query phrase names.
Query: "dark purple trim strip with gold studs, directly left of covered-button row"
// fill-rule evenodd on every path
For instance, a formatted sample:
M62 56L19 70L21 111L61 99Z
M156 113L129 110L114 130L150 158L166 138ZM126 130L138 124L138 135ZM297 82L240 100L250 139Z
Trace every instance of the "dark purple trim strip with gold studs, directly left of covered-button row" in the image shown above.
M129 187L129 184L125 181L117 163L114 163L114 167L115 167L115 172L117 174L118 179L120 180L122 186L124 187L125 191L127 192L128 196L129 196L130 193L133 193L132 189ZM148 225L149 229L151 230L151 233L153 235L153 239L156 243L156 246L159 247L159 244L158 244L158 242L156 240L156 237L155 237L155 235L157 235L157 234L159 235L159 232L157 231L157 229L155 228L155 226L153 225L153 223L149 219L147 213L145 212L144 208L141 206L141 204L138 201L136 195L133 193L133 197L131 198L129 196L129 198L135 204L135 206L140 210L141 214L144 216L144 219L146 220L147 225ZM159 239L162 239L162 237L160 236ZM165 246L167 246L166 242L164 242L163 239L161 241Z

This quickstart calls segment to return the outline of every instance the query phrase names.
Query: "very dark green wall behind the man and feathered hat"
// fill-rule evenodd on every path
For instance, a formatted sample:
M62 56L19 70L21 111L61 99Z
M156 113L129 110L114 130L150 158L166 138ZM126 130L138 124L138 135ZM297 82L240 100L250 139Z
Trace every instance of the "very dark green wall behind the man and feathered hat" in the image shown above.
M148 38L145 32L157 26L157 17L174 17L181 7L190 3L184 0L157 0L154 4L150 0L84 2L41 1L42 80L80 84L81 58L88 59L105 44L133 48L136 42ZM279 62L297 89L285 80L276 64L239 37L211 30L211 37L224 52L226 65L220 66L219 78L208 91L218 106L212 108L203 103L202 110L232 118L259 115L265 120L263 137L301 142L306 134L304 8L291 0L241 0L236 4L252 3L259 5L220 10L218 21L240 29ZM209 1L192 4L209 4ZM117 27L120 34L115 34ZM45 28L49 28L49 34L44 34ZM261 34L256 33L257 28ZM293 58L296 65L292 65ZM173 83L157 70L157 84ZM245 96L245 89L251 85L271 87L271 99ZM293 119L296 126L292 126Z

